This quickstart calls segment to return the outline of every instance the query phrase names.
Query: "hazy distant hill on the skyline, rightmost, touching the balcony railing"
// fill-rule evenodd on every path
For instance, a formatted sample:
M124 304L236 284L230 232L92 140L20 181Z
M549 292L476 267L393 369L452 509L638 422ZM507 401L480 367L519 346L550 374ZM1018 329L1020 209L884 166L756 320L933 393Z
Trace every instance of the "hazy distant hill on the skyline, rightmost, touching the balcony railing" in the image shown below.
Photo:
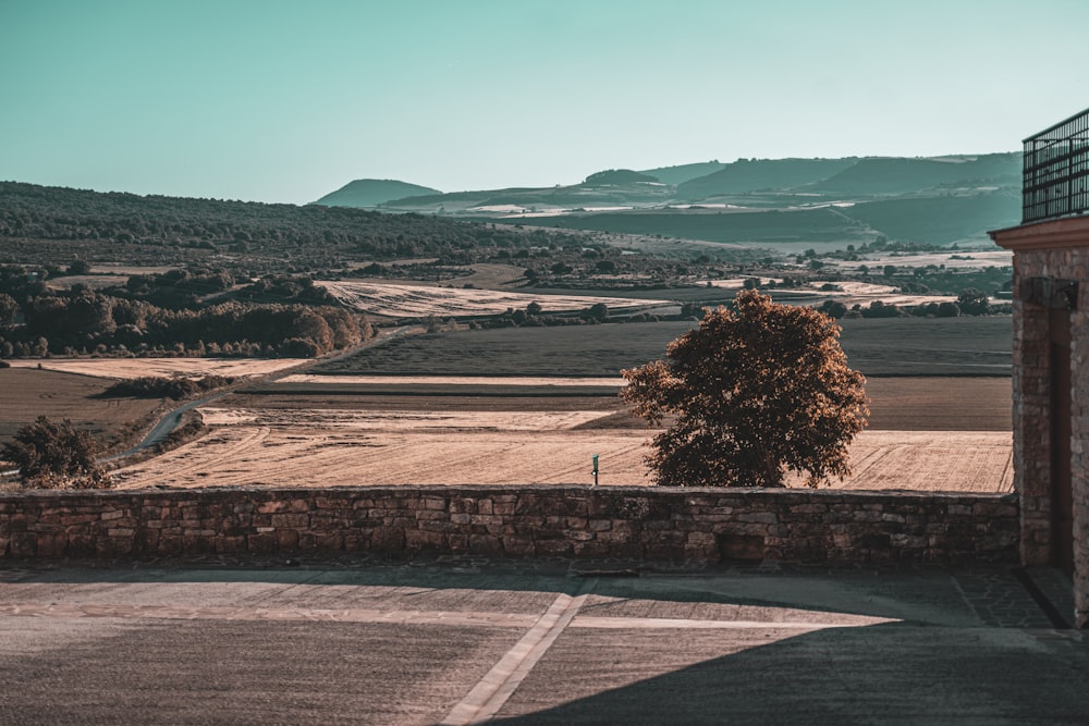
M869 157L812 185L811 192L878 196L949 186L1020 184L1020 153L904 159Z

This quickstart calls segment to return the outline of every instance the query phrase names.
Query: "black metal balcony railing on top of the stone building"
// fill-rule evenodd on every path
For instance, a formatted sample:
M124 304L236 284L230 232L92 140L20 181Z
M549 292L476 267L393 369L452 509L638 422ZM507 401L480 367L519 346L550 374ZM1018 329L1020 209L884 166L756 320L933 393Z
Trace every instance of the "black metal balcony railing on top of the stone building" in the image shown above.
M1089 211L1089 109L1025 139L1021 224Z

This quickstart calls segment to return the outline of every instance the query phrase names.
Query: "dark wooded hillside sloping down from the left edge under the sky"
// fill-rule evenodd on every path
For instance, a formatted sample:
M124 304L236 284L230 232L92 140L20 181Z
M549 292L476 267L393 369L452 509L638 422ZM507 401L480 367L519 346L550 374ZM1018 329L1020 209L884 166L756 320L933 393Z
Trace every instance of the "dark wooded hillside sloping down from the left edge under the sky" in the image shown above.
M478 247L582 244L421 214L0 182L0 263L215 263L245 276L346 260L457 257Z

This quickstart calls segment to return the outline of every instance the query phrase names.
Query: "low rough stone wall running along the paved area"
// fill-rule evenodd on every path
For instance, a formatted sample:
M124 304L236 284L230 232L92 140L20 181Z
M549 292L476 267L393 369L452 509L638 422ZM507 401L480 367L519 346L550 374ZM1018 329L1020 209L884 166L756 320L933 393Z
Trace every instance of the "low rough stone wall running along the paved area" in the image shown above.
M610 487L223 488L0 495L0 557L374 552L1017 562L1017 497Z

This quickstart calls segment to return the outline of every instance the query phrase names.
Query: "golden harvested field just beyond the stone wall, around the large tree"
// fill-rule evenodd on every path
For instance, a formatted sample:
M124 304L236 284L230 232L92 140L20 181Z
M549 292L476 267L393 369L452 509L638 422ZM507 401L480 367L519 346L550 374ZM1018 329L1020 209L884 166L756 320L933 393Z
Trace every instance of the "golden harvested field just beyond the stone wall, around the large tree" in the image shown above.
M854 476L836 485L1008 490L1008 406L953 410L965 401L1001 401L1003 391L1008 397L1008 381L946 381L959 386L959 397L942 383L898 379L873 389L876 424L852 447ZM310 393L271 384L217 402L203 409L209 434L118 471L119 485L588 483L594 454L602 484L650 483L643 457L652 432L615 397L480 397L456 395L454 383L446 395L414 396L408 381L401 394L322 395L320 382L306 385ZM916 426L943 428L879 428L913 424L913 410L922 415Z

